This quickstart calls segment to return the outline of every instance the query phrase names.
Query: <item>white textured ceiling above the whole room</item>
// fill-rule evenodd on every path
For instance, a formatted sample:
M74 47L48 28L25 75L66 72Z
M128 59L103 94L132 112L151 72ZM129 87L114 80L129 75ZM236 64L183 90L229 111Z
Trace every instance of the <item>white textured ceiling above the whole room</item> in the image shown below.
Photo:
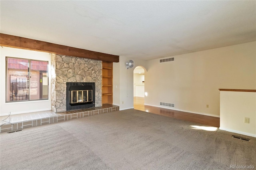
M0 1L0 32L140 59L256 41L256 1Z

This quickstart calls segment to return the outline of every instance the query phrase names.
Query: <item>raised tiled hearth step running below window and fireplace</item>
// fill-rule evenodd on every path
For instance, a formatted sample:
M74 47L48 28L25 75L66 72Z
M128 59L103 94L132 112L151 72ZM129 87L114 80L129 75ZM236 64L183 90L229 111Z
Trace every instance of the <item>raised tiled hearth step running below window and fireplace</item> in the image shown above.
M40 111L33 113L23 113L18 115L10 115L10 117L1 116L0 125L2 126L0 127L0 132L12 132L23 128L46 125L50 123L57 123L61 121L68 121L81 117L100 115L103 113L110 113L114 111L119 111L119 106L104 104L102 105L102 107L78 109L61 113L54 113L52 111Z

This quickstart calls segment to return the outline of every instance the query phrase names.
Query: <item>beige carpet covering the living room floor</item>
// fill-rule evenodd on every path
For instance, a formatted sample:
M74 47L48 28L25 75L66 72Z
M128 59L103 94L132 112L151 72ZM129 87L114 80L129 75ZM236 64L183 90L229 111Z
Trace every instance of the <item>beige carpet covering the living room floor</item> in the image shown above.
M256 139L129 109L0 134L0 169L256 167ZM241 136L241 135L240 135Z

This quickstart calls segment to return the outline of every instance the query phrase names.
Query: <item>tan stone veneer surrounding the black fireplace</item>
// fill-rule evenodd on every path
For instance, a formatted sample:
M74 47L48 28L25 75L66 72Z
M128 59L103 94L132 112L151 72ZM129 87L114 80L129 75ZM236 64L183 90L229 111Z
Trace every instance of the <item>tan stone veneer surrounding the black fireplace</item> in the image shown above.
M55 69L55 71L54 71ZM66 111L66 82L95 82L95 107L102 106L102 61L52 55L52 111Z

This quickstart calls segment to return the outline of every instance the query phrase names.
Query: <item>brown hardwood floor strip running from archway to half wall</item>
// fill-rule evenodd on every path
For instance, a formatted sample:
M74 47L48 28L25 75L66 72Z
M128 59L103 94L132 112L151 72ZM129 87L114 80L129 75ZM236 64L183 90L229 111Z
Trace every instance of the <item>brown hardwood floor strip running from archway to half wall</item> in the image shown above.
M158 115L163 115L167 117L173 117L176 119L182 119L185 121L202 123L203 125L208 125L212 127L220 127L220 118L218 117L198 115L194 113L187 113L182 111L163 109L160 107L147 106L144 105L144 97L134 97L134 109Z

